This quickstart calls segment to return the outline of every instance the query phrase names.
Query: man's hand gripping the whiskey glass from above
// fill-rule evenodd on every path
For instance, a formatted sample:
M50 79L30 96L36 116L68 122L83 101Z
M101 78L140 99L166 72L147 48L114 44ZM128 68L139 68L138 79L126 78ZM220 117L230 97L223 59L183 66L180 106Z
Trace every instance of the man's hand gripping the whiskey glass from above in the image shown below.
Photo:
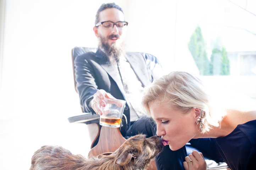
M110 93L107 93L105 90L100 89L94 95L93 99L90 101L91 108L98 114L102 115L102 110L100 106L105 107L106 103L105 98L114 98Z

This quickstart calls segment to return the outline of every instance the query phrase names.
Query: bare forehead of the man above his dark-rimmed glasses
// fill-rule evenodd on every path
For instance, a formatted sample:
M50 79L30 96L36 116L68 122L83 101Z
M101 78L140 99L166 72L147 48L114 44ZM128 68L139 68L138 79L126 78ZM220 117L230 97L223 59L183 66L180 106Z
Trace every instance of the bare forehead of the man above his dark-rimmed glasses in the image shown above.
M110 20L112 22L124 21L124 14L116 8L107 8L99 13L100 22Z

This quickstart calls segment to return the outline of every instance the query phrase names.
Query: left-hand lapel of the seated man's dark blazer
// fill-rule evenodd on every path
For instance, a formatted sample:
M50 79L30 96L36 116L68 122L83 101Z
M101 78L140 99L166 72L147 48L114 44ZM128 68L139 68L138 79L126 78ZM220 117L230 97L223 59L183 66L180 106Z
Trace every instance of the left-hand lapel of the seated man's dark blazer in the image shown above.
M123 88L121 79L120 77L118 77L119 75L117 74L116 70L113 69L113 65L110 63L105 53L98 50L96 52L96 57L100 58L99 64L107 72L107 74L113 78L113 80L116 82L117 86L119 87L121 93L123 94L123 97L125 98L124 88Z

